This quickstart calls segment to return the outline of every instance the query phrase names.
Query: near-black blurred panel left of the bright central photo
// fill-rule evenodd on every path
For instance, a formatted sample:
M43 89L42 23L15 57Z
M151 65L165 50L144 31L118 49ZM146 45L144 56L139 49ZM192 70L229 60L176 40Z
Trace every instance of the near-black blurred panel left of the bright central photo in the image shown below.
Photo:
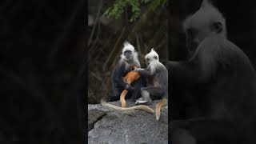
M0 143L82 143L86 2L0 1Z

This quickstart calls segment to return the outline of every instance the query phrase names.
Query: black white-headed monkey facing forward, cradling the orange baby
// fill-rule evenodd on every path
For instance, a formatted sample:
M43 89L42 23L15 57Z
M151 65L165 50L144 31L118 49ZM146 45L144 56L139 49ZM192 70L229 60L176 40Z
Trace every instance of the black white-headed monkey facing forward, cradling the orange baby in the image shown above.
M122 90L128 90L126 98L131 98L133 101L140 97L140 88L143 84L142 78L133 83L130 86L127 82L123 80L123 77L132 70L134 66L140 67L141 64L138 61L138 53L129 42L124 42L122 48L122 54L120 56L118 64L115 66L114 71L111 74L111 83L114 96L108 98L108 102L117 101L120 98Z

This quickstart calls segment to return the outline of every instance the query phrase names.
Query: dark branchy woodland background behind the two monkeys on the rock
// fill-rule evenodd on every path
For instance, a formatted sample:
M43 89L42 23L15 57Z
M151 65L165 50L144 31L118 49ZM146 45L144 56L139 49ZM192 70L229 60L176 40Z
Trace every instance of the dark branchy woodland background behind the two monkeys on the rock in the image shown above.
M117 8L116 11L123 10L119 18L115 18L117 15L107 17L104 14L114 3L122 5L122 2L128 3L123 8ZM118 14L116 11L114 14ZM112 94L110 74L126 40L138 51L142 67L146 66L144 57L152 47L158 52L160 61L168 58L167 2L89 0L87 34L88 103L99 103L102 97Z

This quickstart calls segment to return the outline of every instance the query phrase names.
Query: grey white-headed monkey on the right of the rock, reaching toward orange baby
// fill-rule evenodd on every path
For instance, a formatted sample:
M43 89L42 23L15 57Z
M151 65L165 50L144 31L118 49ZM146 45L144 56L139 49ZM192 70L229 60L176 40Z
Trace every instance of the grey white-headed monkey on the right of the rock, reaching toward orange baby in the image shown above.
M150 103L152 99L162 99L156 104L155 116L158 120L162 106L167 105L168 98L168 71L166 66L159 62L158 53L152 48L150 53L146 54L146 69L138 68L134 71L138 72L142 77L146 78L146 87L141 88L141 98L135 104Z

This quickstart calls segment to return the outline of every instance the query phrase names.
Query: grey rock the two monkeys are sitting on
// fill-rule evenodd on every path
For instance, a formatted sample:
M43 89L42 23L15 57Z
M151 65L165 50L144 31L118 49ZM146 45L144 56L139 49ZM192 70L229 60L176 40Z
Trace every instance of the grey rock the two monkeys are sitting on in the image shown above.
M110 102L120 106L120 102ZM127 102L133 106L134 102ZM154 109L155 101L150 107ZM168 143L168 107L162 107L161 117L142 110L118 111L108 107L88 105L89 144L162 144Z

